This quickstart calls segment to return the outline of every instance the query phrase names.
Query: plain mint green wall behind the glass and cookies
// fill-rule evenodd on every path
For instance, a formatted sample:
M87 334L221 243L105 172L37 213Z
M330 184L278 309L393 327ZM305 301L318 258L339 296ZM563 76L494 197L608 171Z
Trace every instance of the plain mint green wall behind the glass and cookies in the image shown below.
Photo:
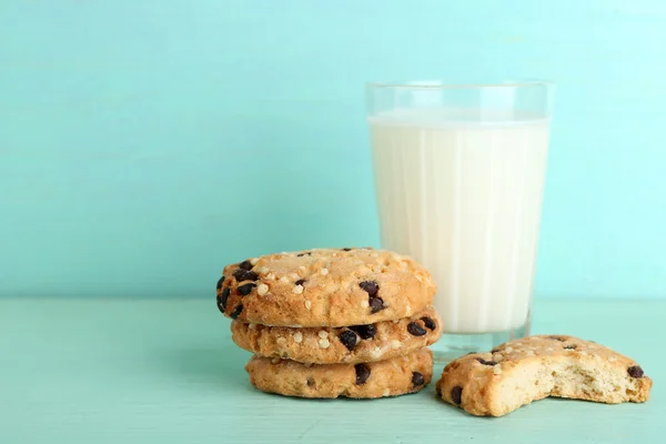
M0 296L377 245L363 82L558 82L536 293L666 296L660 0L0 2Z

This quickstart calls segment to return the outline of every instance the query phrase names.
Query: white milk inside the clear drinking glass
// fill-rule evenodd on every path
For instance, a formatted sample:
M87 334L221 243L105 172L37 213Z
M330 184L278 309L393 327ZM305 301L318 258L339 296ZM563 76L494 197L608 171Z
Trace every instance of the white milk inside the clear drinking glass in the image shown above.
M383 246L433 273L445 332L507 331L532 299L548 121L464 118L370 119Z

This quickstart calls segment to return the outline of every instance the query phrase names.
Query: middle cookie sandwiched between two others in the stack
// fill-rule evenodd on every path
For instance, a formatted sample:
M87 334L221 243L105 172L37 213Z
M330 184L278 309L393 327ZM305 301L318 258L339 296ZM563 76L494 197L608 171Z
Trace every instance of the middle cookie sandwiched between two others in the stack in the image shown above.
M397 321L349 327L291 329L231 324L233 341L261 356L314 364L383 361L431 345L442 335L442 321L432 306Z

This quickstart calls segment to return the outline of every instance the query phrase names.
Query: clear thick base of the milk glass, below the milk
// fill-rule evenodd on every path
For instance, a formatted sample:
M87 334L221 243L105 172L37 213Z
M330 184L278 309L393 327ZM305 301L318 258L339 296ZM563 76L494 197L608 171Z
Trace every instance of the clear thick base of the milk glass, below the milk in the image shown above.
M446 364L467 353L484 353L506 341L525 337L529 334L528 325L506 332L457 334L444 333L440 341L431 345L435 363Z

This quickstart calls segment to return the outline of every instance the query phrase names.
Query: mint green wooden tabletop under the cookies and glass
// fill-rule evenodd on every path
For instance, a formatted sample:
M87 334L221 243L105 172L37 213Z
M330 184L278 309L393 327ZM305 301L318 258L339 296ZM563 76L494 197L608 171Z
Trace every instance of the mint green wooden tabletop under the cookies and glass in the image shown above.
M4 299L0 443L663 442L665 315L666 301L538 300L534 333L578 335L632 356L655 381L652 398L544 400L484 418L440 402L434 384L376 401L261 393L212 299Z

